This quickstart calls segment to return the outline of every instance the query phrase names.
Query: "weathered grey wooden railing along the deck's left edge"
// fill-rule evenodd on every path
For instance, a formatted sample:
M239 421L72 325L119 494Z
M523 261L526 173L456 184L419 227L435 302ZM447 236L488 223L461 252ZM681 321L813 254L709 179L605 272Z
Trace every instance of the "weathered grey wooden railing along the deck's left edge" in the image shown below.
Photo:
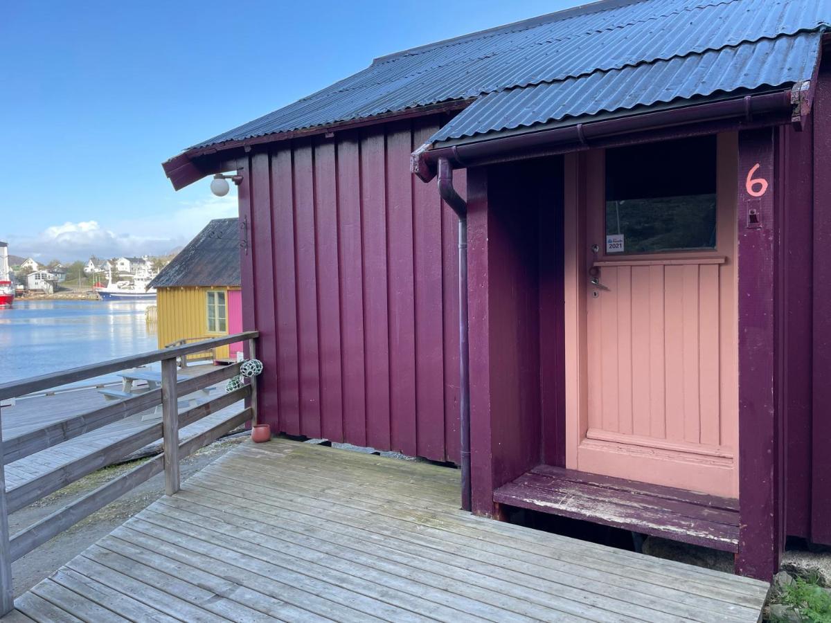
M75 415L41 429L2 439L2 413L0 413L0 616L12 610L12 562L25 556L36 547L75 525L82 519L120 498L157 473L165 473L165 493L173 495L179 491L179 460L199 448L218 439L221 435L237 429L248 420L256 423L257 386L256 377L248 380L237 390L208 400L200 405L179 413L178 397L227 380L239 374L241 364L226 365L204 375L186 380L176 377L176 360L190 353L214 349L238 341L248 341L248 356L256 356L257 331L247 331L234 336L222 336L182 346L145 352L140 355L122 357L94 365L84 365L49 375L13 383L0 384L0 400L19 397L36 391L47 390L59 385L111 374L127 368L161 362L161 388L136 394L110 405L104 405L81 415ZM71 400L71 398L67 398ZM206 415L234 405L238 400L247 400L245 408L229 416L210 429L179 442L179 429L193 424ZM112 424L130 415L161 405L162 421L117 439L105 448L43 473L37 478L7 491L5 466L30 454L51 448L68 439ZM55 513L42 518L17 534L9 535L8 515L37 502L50 493L74 483L89 473L115 463L157 439L163 439L163 451L139 467L112 479L110 482L87 493L75 502L69 503Z

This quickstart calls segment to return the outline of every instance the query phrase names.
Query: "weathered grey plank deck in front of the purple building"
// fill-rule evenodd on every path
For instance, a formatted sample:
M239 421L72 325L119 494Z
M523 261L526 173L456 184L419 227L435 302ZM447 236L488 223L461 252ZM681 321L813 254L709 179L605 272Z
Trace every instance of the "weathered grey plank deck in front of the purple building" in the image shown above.
M234 449L9 621L757 621L767 585L458 509L455 469ZM5 619L4 619L5 621Z

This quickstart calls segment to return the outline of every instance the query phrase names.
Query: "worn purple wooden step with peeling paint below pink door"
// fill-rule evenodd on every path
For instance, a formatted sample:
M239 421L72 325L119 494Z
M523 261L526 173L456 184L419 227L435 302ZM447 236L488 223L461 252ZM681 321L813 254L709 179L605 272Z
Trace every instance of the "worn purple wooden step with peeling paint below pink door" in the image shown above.
M539 465L494 491L494 502L737 552L738 501Z

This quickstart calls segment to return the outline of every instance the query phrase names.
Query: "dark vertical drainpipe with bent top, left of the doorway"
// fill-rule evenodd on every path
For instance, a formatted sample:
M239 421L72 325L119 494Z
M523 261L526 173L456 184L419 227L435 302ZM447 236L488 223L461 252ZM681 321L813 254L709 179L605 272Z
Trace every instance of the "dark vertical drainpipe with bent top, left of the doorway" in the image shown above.
M462 508L470 511L470 349L467 298L467 203L453 187L453 167L446 158L438 163L439 194L459 217L459 380Z

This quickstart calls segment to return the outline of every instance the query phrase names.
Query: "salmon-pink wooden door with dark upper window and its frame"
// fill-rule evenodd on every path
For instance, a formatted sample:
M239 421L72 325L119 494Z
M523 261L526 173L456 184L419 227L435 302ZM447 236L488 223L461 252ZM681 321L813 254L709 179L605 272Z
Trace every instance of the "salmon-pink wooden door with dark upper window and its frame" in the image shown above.
M736 157L720 135L568 160L568 467L737 497Z

